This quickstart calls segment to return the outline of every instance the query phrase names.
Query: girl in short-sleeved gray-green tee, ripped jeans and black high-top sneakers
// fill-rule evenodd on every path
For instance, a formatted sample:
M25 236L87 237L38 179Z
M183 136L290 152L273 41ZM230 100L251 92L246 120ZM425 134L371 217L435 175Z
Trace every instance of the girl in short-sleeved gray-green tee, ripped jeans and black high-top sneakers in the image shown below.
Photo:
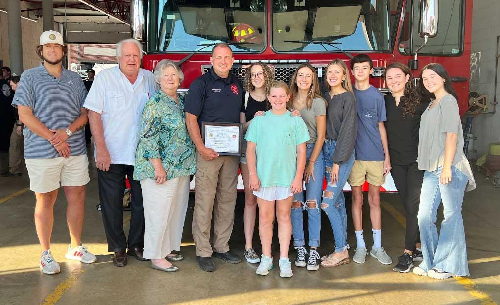
M306 143L306 164L304 169L304 193L295 194L291 208L293 245L297 249L295 265L307 270L319 268L319 233L321 213L318 202L321 200L323 186L324 160L321 148L324 143L326 122L326 101L319 94L319 82L314 67L309 63L300 64L291 77L288 109L300 111L307 126L309 140ZM304 203L305 202L305 203ZM302 211L307 210L310 246L306 259Z

